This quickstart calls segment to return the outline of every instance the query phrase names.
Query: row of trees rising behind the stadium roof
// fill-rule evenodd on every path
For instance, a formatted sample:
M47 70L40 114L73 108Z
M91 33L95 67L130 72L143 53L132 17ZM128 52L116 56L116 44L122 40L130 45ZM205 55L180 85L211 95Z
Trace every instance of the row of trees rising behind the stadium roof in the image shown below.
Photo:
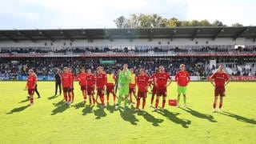
M226 26L223 22L215 20L209 22L207 19L198 21L182 21L178 18L162 18L158 14L130 14L129 18L120 16L114 20L118 28L143 28L143 27L182 27L182 26ZM234 23L232 26L242 26Z

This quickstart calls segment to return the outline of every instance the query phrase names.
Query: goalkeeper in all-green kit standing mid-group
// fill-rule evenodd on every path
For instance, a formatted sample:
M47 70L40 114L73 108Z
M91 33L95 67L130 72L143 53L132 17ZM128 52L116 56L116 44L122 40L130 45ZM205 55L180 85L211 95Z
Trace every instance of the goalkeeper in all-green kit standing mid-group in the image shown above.
M126 109L127 104L129 103L128 100L128 93L129 93L129 83L130 83L130 70L128 70L128 65L124 64L122 66L122 71L118 74L118 110L121 106L121 102L124 101L124 109Z

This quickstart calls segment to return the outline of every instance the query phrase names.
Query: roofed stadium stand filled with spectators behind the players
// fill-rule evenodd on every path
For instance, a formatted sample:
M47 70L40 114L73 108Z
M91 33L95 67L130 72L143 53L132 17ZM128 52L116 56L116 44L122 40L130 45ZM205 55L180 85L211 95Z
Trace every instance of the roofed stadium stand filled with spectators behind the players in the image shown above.
M4 80L24 79L30 68L48 80L63 66L118 70L122 63L150 73L164 65L171 75L185 63L194 79L222 64L234 79L256 79L256 26L0 30L0 52Z

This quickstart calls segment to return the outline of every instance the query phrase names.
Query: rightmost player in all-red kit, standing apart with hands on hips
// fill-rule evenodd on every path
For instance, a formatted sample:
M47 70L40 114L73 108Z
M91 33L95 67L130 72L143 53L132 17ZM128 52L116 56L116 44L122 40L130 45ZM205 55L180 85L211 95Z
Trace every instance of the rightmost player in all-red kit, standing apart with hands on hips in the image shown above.
M214 86L214 104L213 112L216 112L216 104L218 101L218 96L220 96L220 101L218 105L218 110L222 110L223 97L225 97L225 86L230 82L230 77L224 72L224 67L219 66L218 71L210 76L210 83Z

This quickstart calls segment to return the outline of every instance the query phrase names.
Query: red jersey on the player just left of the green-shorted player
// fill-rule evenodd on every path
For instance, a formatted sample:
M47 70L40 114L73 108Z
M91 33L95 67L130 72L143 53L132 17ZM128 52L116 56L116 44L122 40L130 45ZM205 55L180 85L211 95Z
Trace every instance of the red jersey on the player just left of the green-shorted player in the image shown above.
M162 89L166 89L167 81L168 79L171 80L171 77L170 77L170 74L166 72L159 72L156 75L156 79L157 79L158 89L162 90Z

